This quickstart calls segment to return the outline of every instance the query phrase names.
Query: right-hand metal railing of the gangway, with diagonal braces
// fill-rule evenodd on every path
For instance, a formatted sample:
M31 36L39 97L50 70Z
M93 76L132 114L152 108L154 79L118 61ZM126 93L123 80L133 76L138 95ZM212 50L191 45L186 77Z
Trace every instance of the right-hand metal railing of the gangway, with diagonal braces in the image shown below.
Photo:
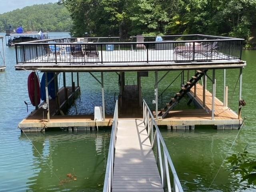
M167 185L168 192L183 192L182 186L180 184L180 180L172 163L172 159L164 143L164 139L161 135L161 132L157 126L157 123L154 119L152 112L150 111L146 101L143 99L143 121L145 127L148 131L148 137L151 135L151 145L152 148L156 147L156 160L158 165L160 166L160 176L162 180L162 185L165 187ZM155 132L154 132L155 127ZM161 145L163 154L161 152ZM170 180L170 171L173 176L173 183Z

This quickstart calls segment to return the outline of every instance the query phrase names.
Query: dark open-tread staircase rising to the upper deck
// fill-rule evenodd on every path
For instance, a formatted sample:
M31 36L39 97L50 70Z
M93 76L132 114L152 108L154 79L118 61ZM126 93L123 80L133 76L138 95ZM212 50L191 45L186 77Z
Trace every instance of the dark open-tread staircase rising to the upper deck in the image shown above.
M190 91L192 87L204 76L204 74L208 71L208 69L204 70L197 70L195 76L192 76L192 78L186 82L186 84L181 87L180 91L176 93L174 98L171 99L169 103L166 103L166 106L164 109L161 109L160 113L158 113L158 116L162 116L162 119L168 115L169 111L173 109L182 99L186 93Z

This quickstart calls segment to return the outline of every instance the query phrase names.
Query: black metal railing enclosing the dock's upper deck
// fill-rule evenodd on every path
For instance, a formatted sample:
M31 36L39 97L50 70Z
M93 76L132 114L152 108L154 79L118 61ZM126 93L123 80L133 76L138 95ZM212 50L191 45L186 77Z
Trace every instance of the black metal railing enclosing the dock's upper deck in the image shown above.
M170 64L169 62L240 60L242 56L243 39L188 35L163 36L164 40L155 42L152 41L153 38L155 36L145 37L144 42L118 42L118 37L106 37L57 38L20 43L15 46L16 61L17 64ZM75 51L72 49L74 47Z

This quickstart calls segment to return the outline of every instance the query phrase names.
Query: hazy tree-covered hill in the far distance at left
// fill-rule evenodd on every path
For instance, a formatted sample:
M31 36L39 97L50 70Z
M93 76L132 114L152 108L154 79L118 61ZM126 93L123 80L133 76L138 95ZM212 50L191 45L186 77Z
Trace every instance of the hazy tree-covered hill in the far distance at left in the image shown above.
M5 32L10 25L14 29L22 26L25 31L42 29L50 32L69 32L72 19L68 10L62 5L36 4L0 14L0 32Z

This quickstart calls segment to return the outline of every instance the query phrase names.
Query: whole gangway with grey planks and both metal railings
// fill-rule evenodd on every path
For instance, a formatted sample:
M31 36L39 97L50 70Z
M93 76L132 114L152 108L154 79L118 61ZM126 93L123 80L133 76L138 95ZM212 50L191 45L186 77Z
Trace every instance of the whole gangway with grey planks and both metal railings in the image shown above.
M116 102L103 192L164 190L183 192L148 105L143 100L143 120L126 120L118 119Z

